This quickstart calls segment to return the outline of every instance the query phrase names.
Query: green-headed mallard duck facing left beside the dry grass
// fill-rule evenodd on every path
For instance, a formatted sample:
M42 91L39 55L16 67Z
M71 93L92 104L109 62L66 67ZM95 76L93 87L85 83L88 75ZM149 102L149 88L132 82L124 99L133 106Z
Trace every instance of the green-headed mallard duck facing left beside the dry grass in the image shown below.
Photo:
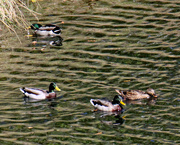
M40 36L60 36L61 34L61 28L53 24L47 24L45 26L32 24L29 28L35 30L34 33Z

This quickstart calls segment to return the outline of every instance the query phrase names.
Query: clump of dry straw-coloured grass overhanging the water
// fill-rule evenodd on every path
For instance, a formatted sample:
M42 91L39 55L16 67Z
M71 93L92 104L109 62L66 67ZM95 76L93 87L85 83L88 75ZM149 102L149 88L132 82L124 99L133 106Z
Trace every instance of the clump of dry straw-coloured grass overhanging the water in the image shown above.
M23 12L36 17L36 12L29 9L23 0L0 0L0 22L15 33L15 28L26 29L28 26Z

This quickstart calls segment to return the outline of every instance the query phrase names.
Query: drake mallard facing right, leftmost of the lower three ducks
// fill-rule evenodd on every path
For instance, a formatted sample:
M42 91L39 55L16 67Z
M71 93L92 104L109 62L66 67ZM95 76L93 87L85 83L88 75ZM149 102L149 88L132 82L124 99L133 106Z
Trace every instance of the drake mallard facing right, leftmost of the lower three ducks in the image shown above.
M51 83L49 85L49 91L37 89L37 88L27 88L27 87L20 88L20 91L26 97L29 97L31 99L44 100L44 99L52 99L56 97L56 93L54 92L54 89L56 89L57 91L61 91L56 85L56 83Z

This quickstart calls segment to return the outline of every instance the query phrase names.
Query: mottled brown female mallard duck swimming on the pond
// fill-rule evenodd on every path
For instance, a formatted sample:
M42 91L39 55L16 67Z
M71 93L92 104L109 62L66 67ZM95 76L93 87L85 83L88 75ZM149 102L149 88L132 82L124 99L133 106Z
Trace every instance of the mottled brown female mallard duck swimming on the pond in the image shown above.
M149 99L150 97L157 97L153 89L147 89L146 92L141 90L118 90L116 92L123 97L124 100L138 100Z

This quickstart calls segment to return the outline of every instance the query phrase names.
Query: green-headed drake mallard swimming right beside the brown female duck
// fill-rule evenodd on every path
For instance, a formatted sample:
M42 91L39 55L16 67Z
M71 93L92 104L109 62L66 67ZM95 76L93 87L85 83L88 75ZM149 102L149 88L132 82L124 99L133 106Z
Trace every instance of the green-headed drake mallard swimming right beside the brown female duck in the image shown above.
M101 99L91 99L91 104L101 111L122 111L123 107L122 105L126 105L122 101L122 97L120 95L116 95L112 102L109 102L107 100L101 100Z

